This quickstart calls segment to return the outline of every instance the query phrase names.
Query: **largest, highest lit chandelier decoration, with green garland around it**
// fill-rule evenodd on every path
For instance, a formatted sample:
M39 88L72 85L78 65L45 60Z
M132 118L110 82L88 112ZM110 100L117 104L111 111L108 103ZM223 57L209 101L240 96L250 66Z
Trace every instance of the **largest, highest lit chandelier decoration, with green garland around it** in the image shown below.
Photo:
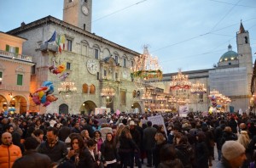
M137 89L143 89L147 81L161 80L162 71L160 70L158 58L148 53L148 46L144 46L143 54L135 58L135 62L131 67L131 79Z

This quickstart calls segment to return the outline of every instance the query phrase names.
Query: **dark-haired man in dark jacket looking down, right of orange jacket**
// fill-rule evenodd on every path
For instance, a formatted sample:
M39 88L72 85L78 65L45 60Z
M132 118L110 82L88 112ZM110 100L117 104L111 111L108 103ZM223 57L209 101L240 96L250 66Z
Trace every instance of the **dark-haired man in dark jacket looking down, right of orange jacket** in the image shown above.
M59 162L67 155L66 144L57 139L57 130L49 127L46 133L47 140L40 144L38 153L46 154L52 162Z

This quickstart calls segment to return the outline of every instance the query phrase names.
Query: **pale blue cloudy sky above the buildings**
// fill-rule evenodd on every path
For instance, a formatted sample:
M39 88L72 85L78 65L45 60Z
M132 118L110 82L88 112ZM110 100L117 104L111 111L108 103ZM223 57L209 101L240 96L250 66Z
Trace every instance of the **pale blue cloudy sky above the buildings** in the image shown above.
M0 0L0 31L62 20L62 9L62 0ZM241 20L256 52L256 0L93 0L92 10L92 32L138 53L148 45L164 73L210 69L229 43L237 52Z

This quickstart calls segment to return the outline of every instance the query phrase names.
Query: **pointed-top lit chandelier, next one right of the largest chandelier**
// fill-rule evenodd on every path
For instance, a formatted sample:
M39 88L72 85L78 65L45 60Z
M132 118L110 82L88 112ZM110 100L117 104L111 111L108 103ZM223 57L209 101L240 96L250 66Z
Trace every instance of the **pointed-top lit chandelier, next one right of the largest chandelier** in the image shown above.
M189 81L189 76L182 74L181 69L178 70L176 76L172 76L172 81L170 83L170 88L172 90L187 90L190 89L191 82Z

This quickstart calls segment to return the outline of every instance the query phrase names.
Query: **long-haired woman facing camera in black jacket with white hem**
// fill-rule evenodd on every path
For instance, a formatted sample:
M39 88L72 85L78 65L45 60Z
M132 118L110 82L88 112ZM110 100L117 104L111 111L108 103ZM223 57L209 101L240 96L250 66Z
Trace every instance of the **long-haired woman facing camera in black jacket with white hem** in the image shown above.
M117 151L116 146L113 142L113 134L108 132L106 135L106 140L102 143L102 162L104 167L116 168L117 167Z

